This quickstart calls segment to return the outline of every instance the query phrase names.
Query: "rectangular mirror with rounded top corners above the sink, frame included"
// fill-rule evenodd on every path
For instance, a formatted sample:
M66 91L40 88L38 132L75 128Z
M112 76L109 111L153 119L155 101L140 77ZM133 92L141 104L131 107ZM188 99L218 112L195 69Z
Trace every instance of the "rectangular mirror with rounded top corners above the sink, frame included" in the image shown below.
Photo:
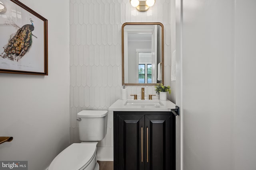
M122 85L164 84L164 25L122 25Z

